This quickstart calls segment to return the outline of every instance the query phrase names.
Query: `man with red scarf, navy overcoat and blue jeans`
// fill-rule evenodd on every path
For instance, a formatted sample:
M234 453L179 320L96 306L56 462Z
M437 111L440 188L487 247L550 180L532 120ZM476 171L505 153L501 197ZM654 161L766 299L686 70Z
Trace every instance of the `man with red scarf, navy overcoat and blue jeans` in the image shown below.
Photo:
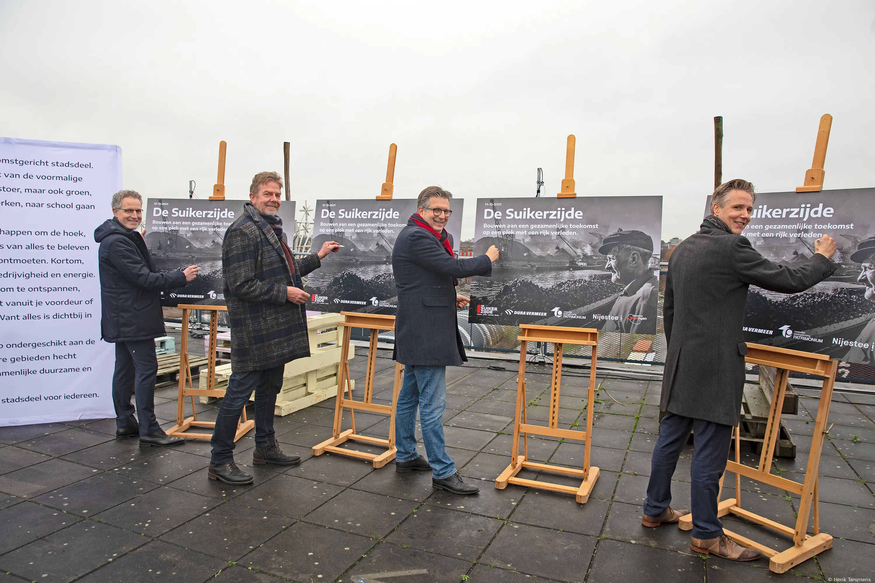
M444 447L447 366L467 361L458 334L456 309L471 301L456 293L461 277L492 275L498 259L494 246L486 255L457 259L446 223L452 194L439 186L419 193L416 214L410 216L395 241L392 269L398 289L395 318L395 358L404 365L404 382L395 406L395 469L431 471L431 484L453 494L476 494L466 484ZM416 408L423 430L425 460L416 452Z

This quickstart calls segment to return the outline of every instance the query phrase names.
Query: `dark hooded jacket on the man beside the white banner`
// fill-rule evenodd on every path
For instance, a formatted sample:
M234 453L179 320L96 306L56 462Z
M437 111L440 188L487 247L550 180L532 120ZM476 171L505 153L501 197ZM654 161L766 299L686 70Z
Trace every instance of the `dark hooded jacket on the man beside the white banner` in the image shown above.
M151 341L164 336L161 292L182 287L182 271L158 272L139 231L115 217L95 228L101 277L101 337L107 342Z

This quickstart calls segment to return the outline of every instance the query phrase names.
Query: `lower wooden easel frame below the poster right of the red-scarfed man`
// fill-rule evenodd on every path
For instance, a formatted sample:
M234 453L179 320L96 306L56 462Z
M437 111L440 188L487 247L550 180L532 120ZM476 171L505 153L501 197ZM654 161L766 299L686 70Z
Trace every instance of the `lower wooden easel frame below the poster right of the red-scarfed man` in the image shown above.
M522 335L520 341L520 374L516 384L516 415L514 419L514 442L511 446L510 465L501 472L495 480L495 488L503 490L507 484L528 486L528 488L541 488L564 494L573 494L577 502L583 504L589 500L593 486L598 480L598 467L590 466L590 442L592 436L592 404L595 400L596 391L596 353L598 351L598 331L592 328L570 328L557 326L533 326L530 324L520 325ZM549 421L547 426L531 425L526 420L526 344L527 342L552 342L553 343L553 377L549 388ZM562 382L562 350L563 344L576 344L592 347L592 360L590 368L590 390L586 405L586 431L571 429L559 429L559 385ZM520 455L520 434L522 434L522 455ZM528 434L544 435L563 439L584 440L584 468L573 469L570 467L550 466L528 461ZM583 478L580 488L553 484L547 481L524 480L515 477L520 470L528 469L543 470L556 474L574 475Z

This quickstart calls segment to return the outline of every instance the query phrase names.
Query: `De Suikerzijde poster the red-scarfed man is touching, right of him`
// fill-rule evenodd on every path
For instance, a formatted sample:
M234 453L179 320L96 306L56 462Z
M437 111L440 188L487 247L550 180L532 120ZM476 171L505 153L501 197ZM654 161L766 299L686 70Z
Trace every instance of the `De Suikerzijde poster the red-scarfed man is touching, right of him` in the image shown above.
M470 322L656 334L662 196L478 199L474 232Z

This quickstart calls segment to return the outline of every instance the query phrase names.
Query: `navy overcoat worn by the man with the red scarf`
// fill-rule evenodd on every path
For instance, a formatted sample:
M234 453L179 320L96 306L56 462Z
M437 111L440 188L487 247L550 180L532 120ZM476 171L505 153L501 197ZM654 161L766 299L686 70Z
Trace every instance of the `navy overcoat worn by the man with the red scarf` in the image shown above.
M458 334L456 287L452 280L491 276L489 257L451 257L435 235L408 220L395 240L392 270L398 289L397 361L427 366L452 366L467 361L465 345Z

